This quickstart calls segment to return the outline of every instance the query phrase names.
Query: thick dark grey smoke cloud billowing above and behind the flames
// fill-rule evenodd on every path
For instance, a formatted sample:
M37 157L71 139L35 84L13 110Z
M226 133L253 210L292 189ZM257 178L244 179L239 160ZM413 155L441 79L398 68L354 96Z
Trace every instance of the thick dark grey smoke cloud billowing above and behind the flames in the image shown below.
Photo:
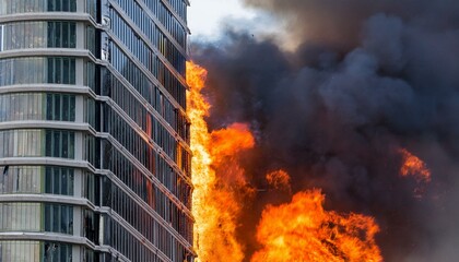
M228 32L192 55L209 70L211 126L243 121L256 133L252 184L283 168L294 192L322 188L328 207L375 216L386 261L457 261L459 2L247 3L290 22L297 49ZM401 147L432 171L422 198L400 177ZM283 200L274 194L260 190L242 221L248 253L263 205Z

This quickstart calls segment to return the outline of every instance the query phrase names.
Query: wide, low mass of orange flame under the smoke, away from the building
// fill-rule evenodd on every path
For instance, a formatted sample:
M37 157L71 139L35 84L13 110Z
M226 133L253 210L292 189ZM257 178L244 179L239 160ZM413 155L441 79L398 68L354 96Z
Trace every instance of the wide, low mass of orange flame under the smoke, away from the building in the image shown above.
M379 228L372 217L323 210L320 190L295 194L292 202L268 205L257 228L262 249L251 262L378 262Z

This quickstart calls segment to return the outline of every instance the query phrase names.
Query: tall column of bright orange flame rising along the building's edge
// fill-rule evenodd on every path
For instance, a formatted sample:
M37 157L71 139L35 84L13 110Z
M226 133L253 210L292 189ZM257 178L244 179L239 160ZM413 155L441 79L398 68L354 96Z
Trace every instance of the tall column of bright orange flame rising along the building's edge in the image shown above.
M187 63L188 116L191 120L192 214L195 216L196 261L243 261L244 250L236 239L240 198L250 193L236 155L255 144L247 124L234 123L209 133L204 117L210 105L201 95L205 70Z

